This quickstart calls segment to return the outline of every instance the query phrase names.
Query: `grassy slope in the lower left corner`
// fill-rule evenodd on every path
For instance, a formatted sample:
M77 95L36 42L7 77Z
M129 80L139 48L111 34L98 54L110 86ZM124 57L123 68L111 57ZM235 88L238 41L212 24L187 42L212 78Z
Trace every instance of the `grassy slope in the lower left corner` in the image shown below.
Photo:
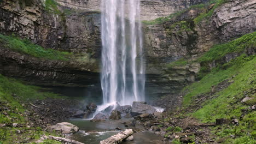
M39 87L24 85L18 80L8 79L0 75L0 104L3 107L0 114L0 124L11 125L12 123L18 123L24 125L22 127L2 127L0 129L0 143L17 143L27 138L36 140L43 134L56 135L54 133L46 133L40 127L26 127L28 121L24 116L26 109L22 106L22 103L28 104L29 101L47 97L63 98L54 93L39 92ZM4 109L4 107L8 107L8 109ZM17 130L22 131L22 134L16 134ZM48 140L45 143L57 142Z

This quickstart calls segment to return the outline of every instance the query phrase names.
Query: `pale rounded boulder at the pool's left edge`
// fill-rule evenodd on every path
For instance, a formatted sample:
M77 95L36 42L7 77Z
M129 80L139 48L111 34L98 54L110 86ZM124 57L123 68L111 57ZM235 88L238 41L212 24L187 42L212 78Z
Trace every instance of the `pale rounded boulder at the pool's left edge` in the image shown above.
M46 129L48 131L61 131L62 134L72 134L76 133L79 130L77 126L67 122L57 123L55 125L47 127Z

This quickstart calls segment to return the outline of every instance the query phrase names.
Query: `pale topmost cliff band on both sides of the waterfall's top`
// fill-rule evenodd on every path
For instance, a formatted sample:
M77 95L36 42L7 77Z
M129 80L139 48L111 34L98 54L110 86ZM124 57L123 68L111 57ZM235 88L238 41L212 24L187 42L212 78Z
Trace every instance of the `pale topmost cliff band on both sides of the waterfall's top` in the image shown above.
M141 20L154 20L208 0L141 0ZM101 0L57 0L61 5L87 11L101 11ZM128 1L126 1L128 2ZM129 9L126 10L126 14Z

